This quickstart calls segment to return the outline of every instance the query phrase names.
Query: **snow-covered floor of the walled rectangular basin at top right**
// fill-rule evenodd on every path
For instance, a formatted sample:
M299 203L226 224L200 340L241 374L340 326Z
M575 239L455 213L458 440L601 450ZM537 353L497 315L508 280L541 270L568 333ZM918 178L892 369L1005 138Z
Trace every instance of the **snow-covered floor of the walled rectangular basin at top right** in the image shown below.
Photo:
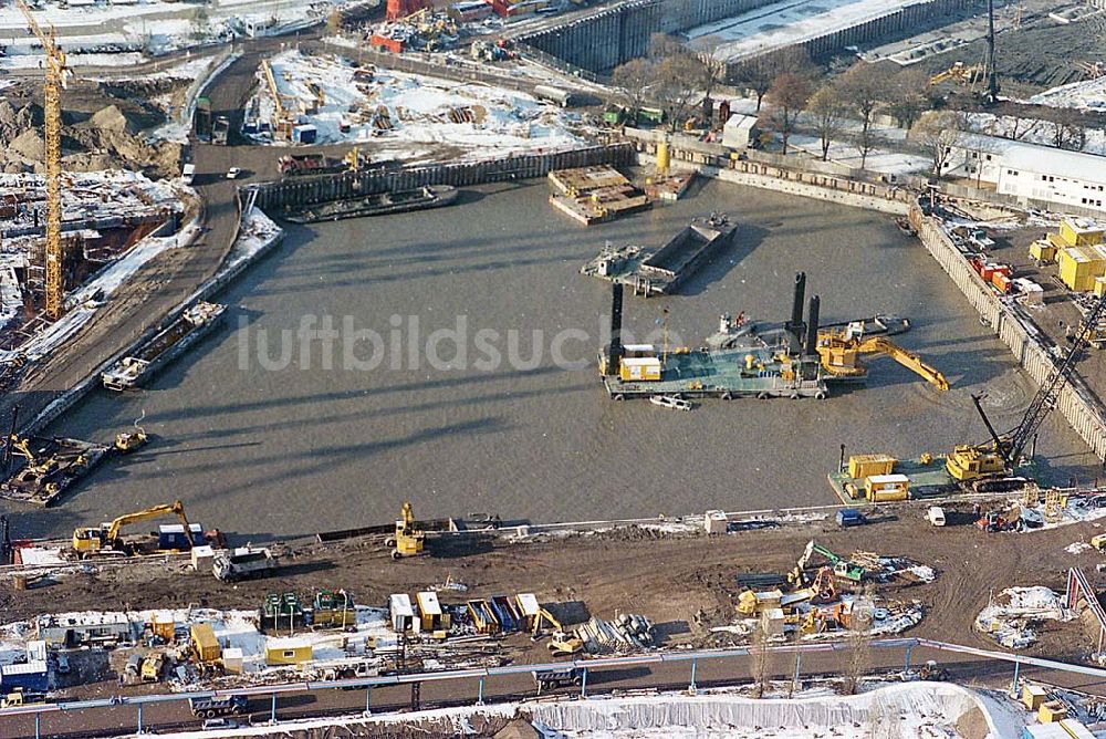
M719 61L763 54L857 25L922 0L782 0L687 31L691 45Z

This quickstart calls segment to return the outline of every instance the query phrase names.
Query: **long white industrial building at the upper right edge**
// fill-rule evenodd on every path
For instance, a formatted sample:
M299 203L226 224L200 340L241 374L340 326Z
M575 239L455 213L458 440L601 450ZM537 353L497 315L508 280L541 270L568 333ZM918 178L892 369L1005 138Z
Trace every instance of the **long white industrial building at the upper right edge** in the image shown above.
M1057 209L1106 211L1106 157L994 136L968 135L951 147L943 173L994 186L1000 195Z

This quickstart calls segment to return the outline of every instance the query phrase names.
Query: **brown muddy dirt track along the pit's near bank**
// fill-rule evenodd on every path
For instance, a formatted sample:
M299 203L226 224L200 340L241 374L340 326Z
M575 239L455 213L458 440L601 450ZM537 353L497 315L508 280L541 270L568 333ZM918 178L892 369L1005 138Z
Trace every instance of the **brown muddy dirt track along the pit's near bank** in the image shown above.
M938 572L936 582L898 581L880 585L888 600L918 600L925 618L910 635L994 648L972 628L989 594L1014 585L1063 590L1067 568L1081 565L1096 582L1094 551L1072 554L1065 548L1087 541L1100 529L1079 523L1031 533L984 534L963 523L929 527L925 509L880 509L877 522L839 530L832 521L768 527L721 537L668 534L619 529L532 543L504 539L431 539L428 556L394 562L380 539L292 547L290 566L274 577L225 585L208 574L186 571L184 563L149 562L91 574L74 574L56 584L13 592L4 583L0 603L8 620L81 608L127 610L184 607L257 607L265 593L313 589L351 590L358 603L384 605L392 593L413 593L447 579L468 586L442 591L445 602L473 596L534 592L543 602L582 601L591 613L614 617L640 613L659 625L672 643L729 645L730 637L707 628L729 623L741 572L784 573L794 566L811 539L832 550L906 556ZM967 521L961 514L953 520ZM701 612L701 613L700 613ZM697 614L699 617L697 617ZM1077 625L1048 624L1031 654L1082 659L1092 642ZM534 658L542 655L538 652Z

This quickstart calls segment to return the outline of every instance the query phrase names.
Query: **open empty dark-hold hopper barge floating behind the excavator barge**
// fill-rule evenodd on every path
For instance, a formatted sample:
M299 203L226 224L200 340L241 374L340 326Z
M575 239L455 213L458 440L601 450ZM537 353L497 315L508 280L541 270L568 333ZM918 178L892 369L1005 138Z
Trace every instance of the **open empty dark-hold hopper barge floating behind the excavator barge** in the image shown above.
M629 287L635 295L670 295L719 251L733 243L737 223L723 214L695 219L655 252L643 247L606 247L580 268L581 274Z

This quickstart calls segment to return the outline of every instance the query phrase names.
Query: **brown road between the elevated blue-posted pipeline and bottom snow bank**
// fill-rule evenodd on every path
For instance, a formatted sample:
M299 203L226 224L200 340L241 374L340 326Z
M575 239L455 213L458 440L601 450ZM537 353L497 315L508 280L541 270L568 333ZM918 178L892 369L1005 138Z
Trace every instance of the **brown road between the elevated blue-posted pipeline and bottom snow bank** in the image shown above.
M827 675L841 676L848 672L851 664L857 665L860 672L874 676L897 673L906 666L907 650L897 643L888 643L888 648L865 649L860 658L851 660L846 652L832 652L828 644L821 645L825 650L804 652L799 660L802 679ZM842 645L838 644L838 648ZM818 648L811 645L812 648ZM1014 676L1014 666L1008 660L984 656L982 654L961 654L939 650L926 646L914 646L910 649L910 666L917 668L925 660L933 659L950 673L951 679L958 683L971 681L977 686L997 689L1010 687ZM629 663L629 664L627 664ZM726 657L699 659L695 666L695 684L698 688L713 688L749 684L754 681L758 663L752 657ZM770 679L791 681L795 676L795 654L789 652L770 652L763 664L763 673ZM609 695L629 690L685 690L691 683L692 664L690 660L657 662L656 655L641 655L640 662L624 660L623 664L588 669L587 695ZM1050 685L1082 690L1093 695L1106 695L1106 683L1098 676L1068 673L1056 669L1045 669L1022 665L1019 676L1041 680ZM1095 670L1088 670L1095 672ZM1097 670L1100 673L1100 670ZM441 708L447 706L473 705L480 695L479 678L428 679L418 684L418 702L415 704L415 689L410 683L377 686L366 694L364 688L342 689L323 688L315 690L282 693L273 700L272 694L264 687L251 688L248 714L241 717L243 722L268 722L273 715L278 721L298 718L356 715L365 710L366 697L375 714L409 711L418 709ZM536 697L533 679L525 666L521 670L508 675L494 675L484 678L484 702L511 702L532 700ZM554 691L559 697L571 698L580 693L578 688L566 687ZM105 701L108 702L108 701ZM142 709L142 726L146 731L169 731L195 728L200 724L188 710L186 702L150 702ZM40 736L49 737L114 737L134 731L138 726L138 707L106 705L102 708L86 710L60 710L41 715ZM4 737L34 737L33 716L24 715L0 719L0 732Z

